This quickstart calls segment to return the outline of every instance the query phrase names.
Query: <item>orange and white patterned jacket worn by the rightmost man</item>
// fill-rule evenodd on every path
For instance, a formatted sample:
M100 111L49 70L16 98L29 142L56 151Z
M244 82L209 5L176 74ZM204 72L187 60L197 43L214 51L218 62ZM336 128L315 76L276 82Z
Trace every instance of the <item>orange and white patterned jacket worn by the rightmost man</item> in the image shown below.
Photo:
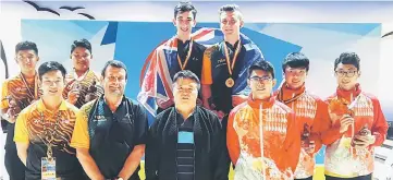
M354 105L352 110L355 119L355 127L349 125L344 133L340 133L340 118L342 117L340 111L343 109L334 107L337 100L342 99ZM354 178L372 173L373 147L383 143L388 132L388 122L379 100L372 95L363 93L357 84L354 91L346 92L337 88L336 93L327 101L331 120L319 124L322 132L321 140L327 144L324 173L339 178ZM376 136L376 143L367 148L354 148L351 145L352 135L359 132L365 125Z

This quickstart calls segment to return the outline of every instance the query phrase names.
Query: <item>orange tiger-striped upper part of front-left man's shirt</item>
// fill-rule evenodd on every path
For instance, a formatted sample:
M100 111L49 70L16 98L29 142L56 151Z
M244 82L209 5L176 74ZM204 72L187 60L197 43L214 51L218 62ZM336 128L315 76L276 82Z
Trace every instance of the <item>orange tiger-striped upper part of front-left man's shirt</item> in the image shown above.
M59 146L63 152L74 154L75 149L71 148L69 144L78 111L75 106L65 100L61 103L59 110L50 111L45 107L42 99L39 99L22 110L17 117L14 142L51 143L54 147ZM48 133L44 131L44 124L46 124ZM47 140L48 134L52 134L53 137L50 142Z

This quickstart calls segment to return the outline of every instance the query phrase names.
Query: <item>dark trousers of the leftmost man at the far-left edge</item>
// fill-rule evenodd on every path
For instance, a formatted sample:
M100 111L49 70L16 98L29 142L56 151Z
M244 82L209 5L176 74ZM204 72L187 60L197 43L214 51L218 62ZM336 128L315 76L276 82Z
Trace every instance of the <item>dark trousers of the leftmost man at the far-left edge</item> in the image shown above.
M16 149L5 149L4 158L5 169L10 176L10 180L24 180L25 179L25 165L17 157Z

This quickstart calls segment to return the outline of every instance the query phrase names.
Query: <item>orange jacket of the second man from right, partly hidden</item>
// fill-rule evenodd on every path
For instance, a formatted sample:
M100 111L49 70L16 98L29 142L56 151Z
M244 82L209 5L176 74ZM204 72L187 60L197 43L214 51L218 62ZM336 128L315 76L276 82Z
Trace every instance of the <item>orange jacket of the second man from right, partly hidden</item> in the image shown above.
M329 120L328 106L322 99L308 93L305 85L298 89L291 89L287 87L286 83L283 83L279 91L275 92L275 95L279 101L284 103L295 111L295 118L299 123L302 133L305 131L305 128L308 127L307 131L310 132L309 140L315 141L316 143L316 151L314 154L308 154L302 148L299 163L295 171L296 179L311 177L314 176L316 165L316 153L318 153L322 146L322 142L319 137L320 132L318 132L318 129L314 128L314 123L318 124L318 121Z

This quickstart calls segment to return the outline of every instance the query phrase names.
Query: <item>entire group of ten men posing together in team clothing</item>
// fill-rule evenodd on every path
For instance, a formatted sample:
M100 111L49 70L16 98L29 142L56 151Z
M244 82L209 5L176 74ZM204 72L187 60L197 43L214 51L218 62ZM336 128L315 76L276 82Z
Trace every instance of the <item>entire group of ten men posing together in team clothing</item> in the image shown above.
M86 39L71 46L71 73L56 61L36 69L36 44L17 44L21 73L2 83L0 104L10 179L137 180L145 156L146 180L228 180L231 163L235 180L309 180L326 145L328 180L371 180L388 123L357 82L355 52L335 59L337 88L327 99L307 91L310 60L302 52L283 59L285 79L273 92L278 72L241 35L237 5L220 8L224 39L210 47L192 35L196 14L191 2L174 8L176 35L153 50L157 71L143 82L164 91L142 88L139 103L124 95L123 62L108 61L100 74L89 69ZM174 56L164 56L170 49ZM150 127L145 96L158 105Z

